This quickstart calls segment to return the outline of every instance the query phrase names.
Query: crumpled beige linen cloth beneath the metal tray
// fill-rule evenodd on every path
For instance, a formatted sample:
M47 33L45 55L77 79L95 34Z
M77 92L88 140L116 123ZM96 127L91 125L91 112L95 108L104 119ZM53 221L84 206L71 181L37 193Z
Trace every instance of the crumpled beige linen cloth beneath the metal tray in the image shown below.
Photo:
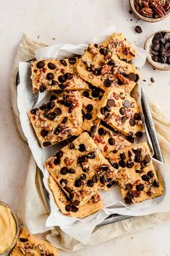
M12 80L10 85L11 100L17 127L23 140L26 140L26 138L24 137L19 122L19 112L17 110L17 86L15 82L18 63L19 61L28 61L30 59L34 59L35 49L42 46L45 46L45 44L37 43L30 40L30 38L27 38L27 36L24 36L19 45L17 56L14 61L14 70L12 72ZM170 166L170 121L165 118L164 114L161 112L161 109L158 108L156 103L149 101L149 104L151 107L151 114L156 125L156 131L158 133L158 139L164 159ZM48 217L48 210L45 208L45 204L42 200L40 187L37 180L37 166L32 156L30 158L30 164L28 167L27 179L19 200L18 216L31 233L43 233L48 230L45 227L45 220ZM169 220L170 213L156 213L151 214L150 216L130 218L126 221L119 221L107 226L97 227L94 229L90 236L89 242L86 245L100 244L108 241L109 239L146 229L149 226L153 226L155 223L162 223ZM65 234L58 227L53 228L46 237L56 246L66 250L77 250L86 246L85 244L82 244L78 240Z

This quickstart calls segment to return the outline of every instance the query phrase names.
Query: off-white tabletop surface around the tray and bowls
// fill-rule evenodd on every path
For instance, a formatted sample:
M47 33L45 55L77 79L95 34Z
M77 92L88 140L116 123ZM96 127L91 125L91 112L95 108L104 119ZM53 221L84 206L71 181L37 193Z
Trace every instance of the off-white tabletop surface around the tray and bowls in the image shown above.
M170 17L149 24L128 13L128 0L6 0L0 11L0 200L17 209L19 191L27 175L30 150L17 132L9 98L9 80L14 56L24 34L45 43L81 43L109 25L127 35L137 46L142 46L151 33L170 29ZM142 34L134 32L141 25ZM39 39L37 39L39 38ZM170 119L170 72L153 70L148 64L142 69L148 96L157 101ZM150 79L155 82L151 84ZM135 234L129 234L96 247L60 255L94 256L167 256L170 222L162 223Z

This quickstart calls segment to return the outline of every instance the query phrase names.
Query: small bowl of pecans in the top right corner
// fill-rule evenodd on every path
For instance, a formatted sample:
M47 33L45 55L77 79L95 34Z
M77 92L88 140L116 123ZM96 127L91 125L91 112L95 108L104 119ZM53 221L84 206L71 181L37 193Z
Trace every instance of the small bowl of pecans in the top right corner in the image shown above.
M146 22L164 20L170 14L170 0L129 0L135 16Z

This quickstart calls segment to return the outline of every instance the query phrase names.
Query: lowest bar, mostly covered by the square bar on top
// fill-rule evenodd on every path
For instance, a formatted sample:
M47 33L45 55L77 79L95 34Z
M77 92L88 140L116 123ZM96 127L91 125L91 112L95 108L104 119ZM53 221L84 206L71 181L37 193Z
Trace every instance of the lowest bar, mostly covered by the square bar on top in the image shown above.
M94 194L89 202L87 202L85 205L79 206L79 200L71 202L68 200L66 194L63 192L61 187L58 186L58 183L55 182L55 179L53 179L53 176L51 175L49 178L49 187L53 192L53 196L58 208L60 208L61 212L66 216L84 218L97 212L98 210L101 210L103 207L102 200L98 193Z

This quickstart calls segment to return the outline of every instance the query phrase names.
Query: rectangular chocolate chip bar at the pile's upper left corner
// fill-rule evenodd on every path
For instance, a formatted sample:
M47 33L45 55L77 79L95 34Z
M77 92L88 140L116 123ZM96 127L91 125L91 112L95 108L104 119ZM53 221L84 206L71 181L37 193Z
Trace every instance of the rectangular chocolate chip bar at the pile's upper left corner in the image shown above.
M76 73L74 65L78 58L42 59L32 63L32 90L86 90L88 85Z

